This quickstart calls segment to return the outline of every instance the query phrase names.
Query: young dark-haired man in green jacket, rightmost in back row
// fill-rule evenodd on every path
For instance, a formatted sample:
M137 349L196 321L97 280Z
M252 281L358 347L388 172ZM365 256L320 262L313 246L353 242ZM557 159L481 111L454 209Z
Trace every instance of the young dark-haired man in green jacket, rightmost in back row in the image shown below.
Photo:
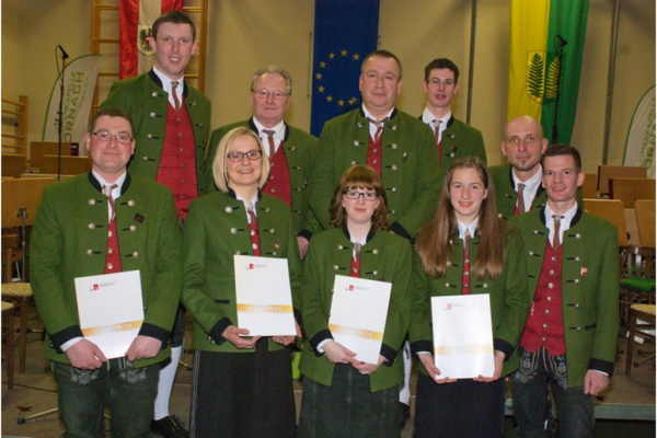
M436 137L442 174L459 157L474 155L486 163L482 132L456 118L451 112L452 100L459 91L459 67L447 58L434 59L425 67L422 89L427 95L427 106L420 118Z

